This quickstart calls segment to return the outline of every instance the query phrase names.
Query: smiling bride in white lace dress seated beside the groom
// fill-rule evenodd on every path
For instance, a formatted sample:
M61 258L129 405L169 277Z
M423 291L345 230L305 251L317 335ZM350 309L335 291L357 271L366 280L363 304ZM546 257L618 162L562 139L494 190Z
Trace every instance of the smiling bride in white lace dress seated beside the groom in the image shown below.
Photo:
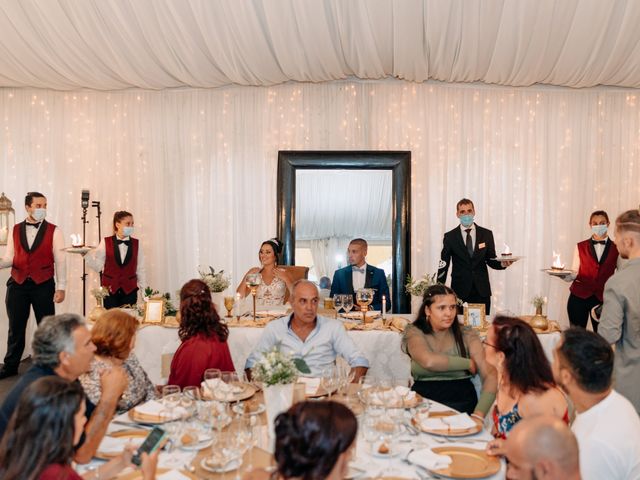
M245 274L236 290L241 297L244 298L250 293L245 283L247 275L258 273L261 281L256 294L256 304L261 306L284 305L291 292L292 282L286 270L278 267L278 254L281 250L282 243L275 238L262 242L258 254L262 268L254 267Z

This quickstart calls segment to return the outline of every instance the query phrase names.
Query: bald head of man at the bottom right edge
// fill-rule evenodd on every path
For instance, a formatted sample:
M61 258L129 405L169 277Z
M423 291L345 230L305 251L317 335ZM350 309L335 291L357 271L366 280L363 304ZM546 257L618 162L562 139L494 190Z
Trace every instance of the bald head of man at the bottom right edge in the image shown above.
M505 452L509 480L580 480L578 442L558 418L521 420L511 430Z

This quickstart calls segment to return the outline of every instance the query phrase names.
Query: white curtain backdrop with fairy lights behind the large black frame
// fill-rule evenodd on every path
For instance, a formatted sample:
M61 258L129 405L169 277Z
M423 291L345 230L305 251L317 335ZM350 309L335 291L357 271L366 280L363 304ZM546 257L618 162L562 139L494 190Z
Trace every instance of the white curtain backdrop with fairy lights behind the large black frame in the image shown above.
M109 233L134 213L150 284L173 294L212 265L239 281L276 230L278 150L412 151L412 273L437 268L455 203L526 258L492 272L497 310L530 312L536 294L564 318L567 285L540 270L567 262L596 208L615 217L640 199L637 91L413 84L399 80L119 93L0 91L0 190L18 213L49 199L65 237L81 230L91 190ZM92 209L90 243L97 242ZM80 310L81 261L68 299ZM90 277L95 283L96 277ZM6 322L6 312L0 309Z

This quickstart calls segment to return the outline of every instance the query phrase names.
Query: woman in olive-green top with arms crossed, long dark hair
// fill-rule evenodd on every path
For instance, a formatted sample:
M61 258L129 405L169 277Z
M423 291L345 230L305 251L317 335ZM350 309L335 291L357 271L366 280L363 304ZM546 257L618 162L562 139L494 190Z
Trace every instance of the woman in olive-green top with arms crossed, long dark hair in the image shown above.
M484 360L478 335L460 327L453 290L427 288L417 318L405 331L403 349L411 357L414 391L484 418L495 398L496 373ZM480 399L471 382L476 373L482 378Z

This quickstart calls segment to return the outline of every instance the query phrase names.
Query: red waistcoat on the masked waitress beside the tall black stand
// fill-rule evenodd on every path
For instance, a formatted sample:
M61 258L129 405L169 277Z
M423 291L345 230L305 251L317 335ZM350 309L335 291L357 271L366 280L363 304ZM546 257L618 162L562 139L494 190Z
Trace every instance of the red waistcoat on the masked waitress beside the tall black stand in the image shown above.
M120 250L115 242L116 236L105 237L105 259L102 270L102 286L107 287L110 293L116 293L122 289L124 293L131 293L138 288L138 239L130 238L127 256L120 259ZM116 249L118 249L116 253ZM121 262L118 262L120 259Z

